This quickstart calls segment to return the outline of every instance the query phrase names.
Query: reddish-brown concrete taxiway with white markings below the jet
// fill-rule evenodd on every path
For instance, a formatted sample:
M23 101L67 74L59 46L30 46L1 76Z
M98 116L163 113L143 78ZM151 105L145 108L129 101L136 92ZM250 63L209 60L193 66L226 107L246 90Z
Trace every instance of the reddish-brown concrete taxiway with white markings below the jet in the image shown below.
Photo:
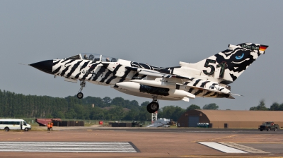
M0 157L283 157L282 149L283 130L54 127L50 133L0 131Z

